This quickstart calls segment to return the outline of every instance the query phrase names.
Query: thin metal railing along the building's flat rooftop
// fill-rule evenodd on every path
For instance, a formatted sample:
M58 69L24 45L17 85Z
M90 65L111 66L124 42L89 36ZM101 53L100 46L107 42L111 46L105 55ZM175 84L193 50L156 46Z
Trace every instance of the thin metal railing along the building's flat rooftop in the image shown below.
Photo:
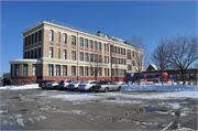
M74 29L74 30L77 30L77 31L80 31L80 32L85 32L85 33L88 33L88 34L97 35L96 32L92 32L92 31L89 31L89 30L86 30L86 29L82 29L82 28L78 28L78 26L75 26L75 25L72 25L72 24L68 24L68 23L64 23L64 22L61 22L61 21L57 21L57 20L52 20L52 21L48 21L48 22L54 23L54 24L58 24L58 25L62 25L62 26L66 26L66 28L69 28L69 29Z

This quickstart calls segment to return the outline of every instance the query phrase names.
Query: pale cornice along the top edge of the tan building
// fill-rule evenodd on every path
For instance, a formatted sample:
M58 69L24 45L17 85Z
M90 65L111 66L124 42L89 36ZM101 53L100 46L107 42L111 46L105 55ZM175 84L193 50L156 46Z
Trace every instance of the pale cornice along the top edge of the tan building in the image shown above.
M139 48L140 51L144 52L144 50L140 48L140 47L136 47L134 45L127 45L127 44L123 44L123 43L119 43L119 42L114 42L112 40L108 40L108 39L105 39L105 37L101 37L101 36L97 36L97 35L92 35L92 34L89 34L89 33L85 33L85 32L81 32L81 31L78 31L78 30L74 30L74 29L69 29L69 28L66 28L66 26L63 26L63 25L58 25L58 24L55 24L55 23L52 23L52 22L48 22L48 21L41 21L34 25L32 25L31 28L24 30L22 32L22 34L24 35L24 33L28 33L29 31L33 30L34 28L37 28L42 24L50 24L50 25L54 25L54 26L58 26L58 28L64 28L64 29L67 29L67 30L70 30L70 31L74 31L74 32L78 32L78 33L81 33L81 34L86 34L86 35L90 35L90 36L94 36L94 37L97 37L97 39L101 39L101 40L105 40L105 41L109 41L110 43L117 43L117 44L120 44L120 45L125 45L128 47L134 47L134 48Z

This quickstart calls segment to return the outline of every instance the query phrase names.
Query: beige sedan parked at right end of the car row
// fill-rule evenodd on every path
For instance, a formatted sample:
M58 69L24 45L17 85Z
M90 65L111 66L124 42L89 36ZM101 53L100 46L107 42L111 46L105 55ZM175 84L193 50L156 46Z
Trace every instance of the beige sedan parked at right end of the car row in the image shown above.
M92 86L92 91L110 91L110 90L117 90L120 91L122 88L121 85L117 85L113 81L99 81L97 85Z

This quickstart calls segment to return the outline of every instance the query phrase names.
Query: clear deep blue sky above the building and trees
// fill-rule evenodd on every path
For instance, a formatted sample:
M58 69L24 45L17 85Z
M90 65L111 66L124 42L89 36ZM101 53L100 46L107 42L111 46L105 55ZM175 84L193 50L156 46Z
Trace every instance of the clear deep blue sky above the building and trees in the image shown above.
M52 19L127 41L133 34L141 35L152 52L161 36L197 34L197 2L1 1L0 76L10 72L10 61L22 58L21 32Z

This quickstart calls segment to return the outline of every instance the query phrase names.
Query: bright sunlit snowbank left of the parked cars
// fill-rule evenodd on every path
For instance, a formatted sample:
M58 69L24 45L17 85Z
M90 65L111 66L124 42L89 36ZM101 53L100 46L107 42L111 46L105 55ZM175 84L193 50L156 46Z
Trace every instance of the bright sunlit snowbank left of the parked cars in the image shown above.
M30 85L24 85L24 86L4 86L0 87L0 89L37 89L38 84L30 84Z

